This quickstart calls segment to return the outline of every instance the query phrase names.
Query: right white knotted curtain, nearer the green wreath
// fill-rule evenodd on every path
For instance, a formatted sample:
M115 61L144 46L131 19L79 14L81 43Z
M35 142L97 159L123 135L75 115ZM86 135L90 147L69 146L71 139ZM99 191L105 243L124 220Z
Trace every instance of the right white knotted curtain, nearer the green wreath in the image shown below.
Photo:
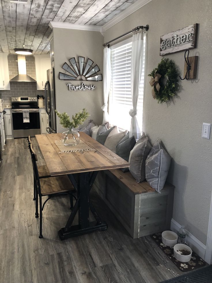
M135 138L141 137L141 130L136 119L137 104L139 96L139 85L143 68L143 33L133 34L132 55L131 55L131 95L133 100L133 109L130 109L131 118L129 136Z

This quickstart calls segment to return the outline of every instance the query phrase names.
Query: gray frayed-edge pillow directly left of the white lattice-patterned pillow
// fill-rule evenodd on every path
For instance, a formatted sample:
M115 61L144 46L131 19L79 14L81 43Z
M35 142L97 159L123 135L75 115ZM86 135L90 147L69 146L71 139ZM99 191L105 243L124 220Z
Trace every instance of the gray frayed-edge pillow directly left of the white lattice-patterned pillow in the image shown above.
M152 146L145 134L137 141L133 149L130 151L129 163L130 173L133 175L137 183L145 180L145 161Z

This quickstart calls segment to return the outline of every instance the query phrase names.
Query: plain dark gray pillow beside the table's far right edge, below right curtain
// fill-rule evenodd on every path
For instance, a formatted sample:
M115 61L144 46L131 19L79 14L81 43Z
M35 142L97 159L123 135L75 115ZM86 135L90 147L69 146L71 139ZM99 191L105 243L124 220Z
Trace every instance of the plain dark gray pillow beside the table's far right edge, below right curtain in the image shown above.
M130 151L133 149L134 145L136 144L136 140L134 136L129 138L129 132L126 134L124 138L118 143L116 146L116 154L123 158L124 160L128 161L130 156ZM129 171L129 167L121 168L123 172Z

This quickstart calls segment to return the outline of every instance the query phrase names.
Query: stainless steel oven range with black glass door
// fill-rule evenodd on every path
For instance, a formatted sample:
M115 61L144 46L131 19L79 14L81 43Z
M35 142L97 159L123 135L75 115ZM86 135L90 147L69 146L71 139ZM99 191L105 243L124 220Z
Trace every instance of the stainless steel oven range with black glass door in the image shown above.
M23 110L29 110L29 123L23 121ZM41 133L37 97L12 97L14 138L35 136Z

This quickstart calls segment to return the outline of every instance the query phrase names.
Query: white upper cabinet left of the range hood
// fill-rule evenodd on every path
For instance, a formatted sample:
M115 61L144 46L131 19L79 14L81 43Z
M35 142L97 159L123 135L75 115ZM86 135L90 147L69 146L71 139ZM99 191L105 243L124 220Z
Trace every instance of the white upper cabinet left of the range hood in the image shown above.
M7 53L0 53L0 90L10 90Z

